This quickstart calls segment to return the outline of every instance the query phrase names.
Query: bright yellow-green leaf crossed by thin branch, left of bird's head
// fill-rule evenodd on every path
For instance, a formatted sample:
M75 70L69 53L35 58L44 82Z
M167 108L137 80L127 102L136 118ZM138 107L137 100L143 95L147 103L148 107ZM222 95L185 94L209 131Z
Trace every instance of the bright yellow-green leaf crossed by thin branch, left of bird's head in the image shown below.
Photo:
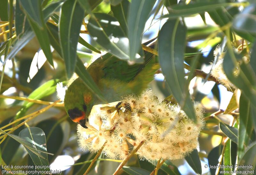
M48 82L44 83L43 85L38 87L36 90L31 92L31 94L28 96L28 98L29 99L42 99L43 97L51 95L52 93L54 93L56 91L57 83L59 83L58 79L49 80ZM23 103L23 107L16 114L15 119L22 117L33 104L34 103L32 103L32 102L25 101Z

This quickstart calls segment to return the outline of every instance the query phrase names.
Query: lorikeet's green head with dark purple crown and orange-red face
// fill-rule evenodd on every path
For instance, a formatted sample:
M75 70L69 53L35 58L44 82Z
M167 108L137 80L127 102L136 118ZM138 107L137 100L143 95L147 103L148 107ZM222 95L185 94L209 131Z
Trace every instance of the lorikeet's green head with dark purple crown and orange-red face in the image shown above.
M80 78L70 84L66 90L64 105L71 120L87 128L86 122L88 122L94 100L93 93Z

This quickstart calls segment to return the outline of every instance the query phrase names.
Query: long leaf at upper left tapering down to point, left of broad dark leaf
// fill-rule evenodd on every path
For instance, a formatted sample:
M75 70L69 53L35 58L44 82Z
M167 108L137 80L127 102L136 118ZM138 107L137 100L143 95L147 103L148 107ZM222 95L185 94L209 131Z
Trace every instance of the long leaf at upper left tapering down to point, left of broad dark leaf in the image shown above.
M20 4L25 10L26 15L28 16L28 21L36 34L38 42L44 51L44 55L53 66L52 52L50 48L50 41L47 34L46 25L44 23L43 12L41 9L41 1L33 0L20 0Z

